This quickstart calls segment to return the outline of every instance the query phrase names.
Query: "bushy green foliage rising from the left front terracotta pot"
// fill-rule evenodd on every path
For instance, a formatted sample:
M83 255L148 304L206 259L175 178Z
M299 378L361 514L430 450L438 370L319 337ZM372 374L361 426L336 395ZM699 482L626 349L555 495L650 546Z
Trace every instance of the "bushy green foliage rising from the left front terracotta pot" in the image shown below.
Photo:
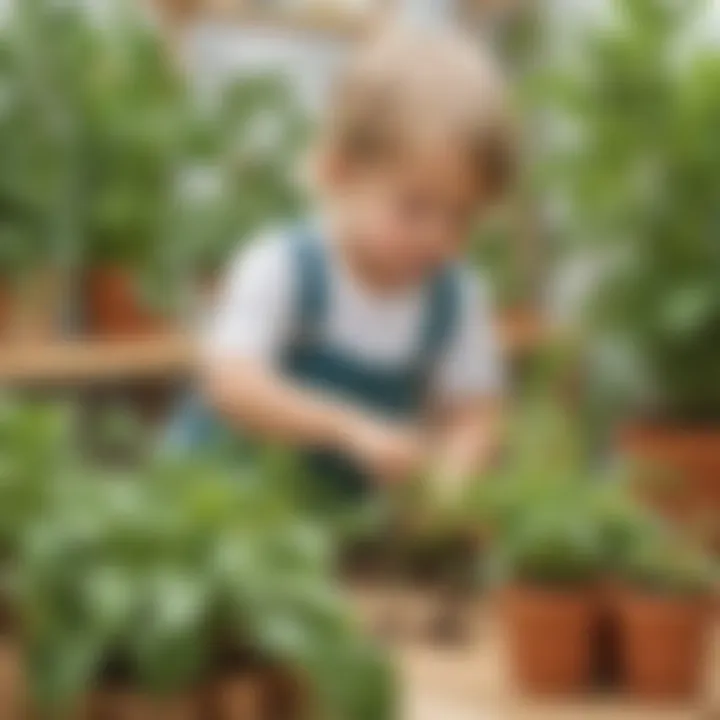
M519 411L505 463L465 504L487 528L495 579L541 586L614 572L636 537L659 524L633 501L624 472L593 468L572 418L543 393Z

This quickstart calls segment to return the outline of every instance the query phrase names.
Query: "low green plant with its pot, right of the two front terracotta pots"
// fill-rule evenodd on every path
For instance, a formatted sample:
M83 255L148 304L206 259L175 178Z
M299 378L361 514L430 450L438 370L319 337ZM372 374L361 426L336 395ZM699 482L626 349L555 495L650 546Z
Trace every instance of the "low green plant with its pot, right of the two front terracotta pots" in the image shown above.
M615 595L622 676L634 695L699 696L706 679L717 567L672 535L639 540L619 570Z

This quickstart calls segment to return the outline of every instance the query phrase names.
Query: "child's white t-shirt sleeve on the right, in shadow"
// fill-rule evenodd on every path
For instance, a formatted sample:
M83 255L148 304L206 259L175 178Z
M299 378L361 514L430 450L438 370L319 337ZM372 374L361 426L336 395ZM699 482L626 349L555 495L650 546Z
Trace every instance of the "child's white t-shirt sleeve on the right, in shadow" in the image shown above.
M460 280L458 312L455 330L437 368L435 397L446 403L501 395L505 373L490 293L469 273Z

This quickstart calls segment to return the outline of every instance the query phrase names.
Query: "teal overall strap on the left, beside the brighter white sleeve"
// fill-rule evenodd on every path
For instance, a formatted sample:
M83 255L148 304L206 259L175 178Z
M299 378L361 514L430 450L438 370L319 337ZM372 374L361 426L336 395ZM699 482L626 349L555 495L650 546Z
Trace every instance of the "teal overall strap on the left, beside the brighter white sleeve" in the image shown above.
M307 225L288 233L296 283L296 321L300 340L314 337L328 307L327 254L317 233Z

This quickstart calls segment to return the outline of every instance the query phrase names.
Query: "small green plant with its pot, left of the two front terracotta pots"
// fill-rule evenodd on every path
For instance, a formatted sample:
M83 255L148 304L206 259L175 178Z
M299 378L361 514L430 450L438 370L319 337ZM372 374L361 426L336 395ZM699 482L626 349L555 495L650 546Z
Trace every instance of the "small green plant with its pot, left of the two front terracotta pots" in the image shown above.
M592 680L600 541L592 518L559 496L497 538L508 652L527 692L567 694Z

